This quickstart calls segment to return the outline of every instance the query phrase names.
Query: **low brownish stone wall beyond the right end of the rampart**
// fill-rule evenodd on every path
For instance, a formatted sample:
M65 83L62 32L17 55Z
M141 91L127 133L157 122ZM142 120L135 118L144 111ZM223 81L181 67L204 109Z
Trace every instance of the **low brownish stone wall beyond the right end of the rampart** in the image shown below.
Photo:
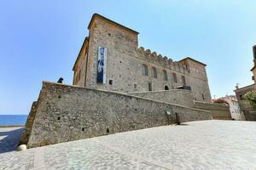
M218 104L195 101L194 107L204 111L210 111L212 113L213 119L220 119L220 120L232 119L230 114L230 107L228 105L218 105Z

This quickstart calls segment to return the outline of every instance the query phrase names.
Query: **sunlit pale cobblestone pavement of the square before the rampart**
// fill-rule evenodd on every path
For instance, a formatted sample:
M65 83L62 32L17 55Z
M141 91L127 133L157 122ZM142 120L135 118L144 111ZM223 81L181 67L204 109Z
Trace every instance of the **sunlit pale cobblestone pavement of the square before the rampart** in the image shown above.
M10 151L2 169L256 169L256 122L187 122Z

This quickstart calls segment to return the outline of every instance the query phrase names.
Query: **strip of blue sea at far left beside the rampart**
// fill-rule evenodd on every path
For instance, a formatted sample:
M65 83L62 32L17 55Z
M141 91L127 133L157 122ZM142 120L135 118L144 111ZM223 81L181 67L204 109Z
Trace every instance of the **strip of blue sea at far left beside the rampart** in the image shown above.
M0 115L0 126L25 125L27 115Z

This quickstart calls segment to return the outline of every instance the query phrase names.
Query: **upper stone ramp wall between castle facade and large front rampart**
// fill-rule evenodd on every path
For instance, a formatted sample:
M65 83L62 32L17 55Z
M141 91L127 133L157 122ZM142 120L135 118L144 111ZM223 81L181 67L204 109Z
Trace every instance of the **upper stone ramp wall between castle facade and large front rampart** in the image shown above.
M193 96L191 91L185 89L172 89L153 92L129 93L142 98L154 99L169 104L183 105L193 107Z

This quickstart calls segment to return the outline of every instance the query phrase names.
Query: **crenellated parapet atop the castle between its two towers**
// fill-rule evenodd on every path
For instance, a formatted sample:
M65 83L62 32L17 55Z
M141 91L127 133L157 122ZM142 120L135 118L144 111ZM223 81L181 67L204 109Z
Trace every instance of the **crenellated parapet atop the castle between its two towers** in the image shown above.
M157 54L155 51L151 52L150 49L144 49L143 47L137 48L138 56L147 60L150 63L169 68L173 71L178 71L182 73L189 73L189 68L187 65L183 65L177 61L173 61L171 58Z

